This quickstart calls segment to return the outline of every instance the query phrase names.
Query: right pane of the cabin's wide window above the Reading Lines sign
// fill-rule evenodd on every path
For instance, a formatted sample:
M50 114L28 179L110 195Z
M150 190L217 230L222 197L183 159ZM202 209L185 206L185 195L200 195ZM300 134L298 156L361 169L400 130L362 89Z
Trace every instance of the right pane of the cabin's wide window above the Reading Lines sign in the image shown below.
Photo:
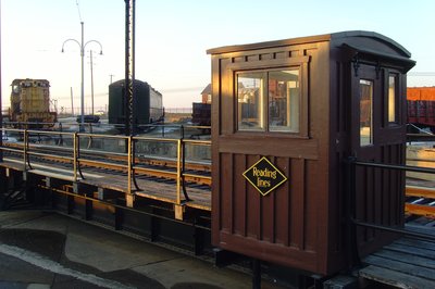
M299 133L299 71L269 73L269 129Z

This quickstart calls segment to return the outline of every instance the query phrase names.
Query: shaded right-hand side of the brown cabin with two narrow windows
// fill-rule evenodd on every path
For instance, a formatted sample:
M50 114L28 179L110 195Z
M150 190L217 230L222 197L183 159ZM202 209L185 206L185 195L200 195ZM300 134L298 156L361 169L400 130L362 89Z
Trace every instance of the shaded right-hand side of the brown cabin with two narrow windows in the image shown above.
M399 74L387 68L360 65L351 81L351 154L358 161L383 164L405 163L405 123L400 110ZM396 79L396 80L395 80ZM356 218L400 227L403 222L403 172L357 166L355 176ZM394 236L384 230L358 227L361 255Z

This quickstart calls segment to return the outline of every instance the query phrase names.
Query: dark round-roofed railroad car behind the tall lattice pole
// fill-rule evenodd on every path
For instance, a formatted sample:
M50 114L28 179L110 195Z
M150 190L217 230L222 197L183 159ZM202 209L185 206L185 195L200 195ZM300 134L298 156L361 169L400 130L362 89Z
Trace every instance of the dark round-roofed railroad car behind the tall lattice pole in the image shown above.
M125 100L125 81L117 80L109 86L109 124L125 124L127 102ZM148 83L135 80L136 103L133 105L135 125L147 125L163 120L162 93Z

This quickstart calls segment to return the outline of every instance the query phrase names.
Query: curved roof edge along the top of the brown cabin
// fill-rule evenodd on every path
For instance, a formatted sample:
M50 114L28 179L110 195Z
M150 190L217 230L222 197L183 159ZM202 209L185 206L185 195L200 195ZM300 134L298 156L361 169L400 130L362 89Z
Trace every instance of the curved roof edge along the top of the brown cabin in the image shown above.
M357 38L357 37L368 37L368 38L378 39L382 42L385 42L386 45L391 46L395 49L399 50L403 55L406 55L408 58L411 56L411 53L407 49L405 49L401 45L396 42L395 40L393 40L384 35L381 35L378 33L365 32L365 30L349 30L349 32L339 32L339 33L325 34L325 35L297 37L297 38L257 42L257 43L248 43L248 45L225 46L225 47L209 49L209 50L207 50L207 53L208 54L220 54L220 53L227 53L227 52L281 47L281 46L288 46L288 45L303 45L303 43L310 43L310 42L331 41L331 40L338 40L338 39L343 39L343 42L346 42L346 40L345 40L346 38Z

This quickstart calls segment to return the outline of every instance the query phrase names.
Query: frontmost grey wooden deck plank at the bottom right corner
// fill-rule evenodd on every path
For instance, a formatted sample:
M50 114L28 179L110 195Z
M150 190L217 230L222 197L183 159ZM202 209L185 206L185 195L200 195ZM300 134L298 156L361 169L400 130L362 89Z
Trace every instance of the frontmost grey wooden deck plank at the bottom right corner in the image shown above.
M359 275L363 278L395 286L398 288L415 288L415 289L435 288L435 281L426 280L420 277L410 276L408 274L373 265L369 265L365 268L360 269Z

